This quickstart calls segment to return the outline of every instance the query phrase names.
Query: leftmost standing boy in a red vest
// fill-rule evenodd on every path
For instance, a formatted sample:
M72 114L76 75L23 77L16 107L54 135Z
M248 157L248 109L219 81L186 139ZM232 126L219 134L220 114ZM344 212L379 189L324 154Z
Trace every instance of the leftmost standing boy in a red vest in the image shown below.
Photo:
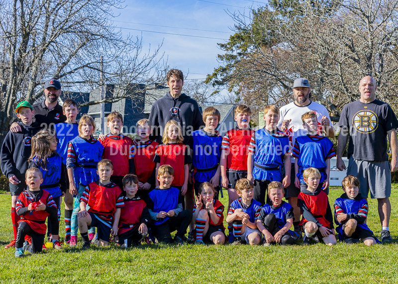
M122 179L127 174L134 173L134 143L130 137L124 136L121 131L123 128L123 116L112 111L106 118L106 126L110 133L100 135L98 141L103 146L102 159L109 159L114 166L113 175L110 181L120 189L123 187Z

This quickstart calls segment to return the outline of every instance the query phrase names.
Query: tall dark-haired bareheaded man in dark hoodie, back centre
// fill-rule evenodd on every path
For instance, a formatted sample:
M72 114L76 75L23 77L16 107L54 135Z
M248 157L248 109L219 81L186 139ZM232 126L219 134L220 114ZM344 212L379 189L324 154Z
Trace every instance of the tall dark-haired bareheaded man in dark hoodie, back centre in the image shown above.
M167 87L170 91L152 106L149 120L153 130L153 140L162 143L164 127L170 119L180 123L186 145L192 142L191 132L204 125L198 102L188 95L181 94L184 86L184 75L181 70L171 69L167 73ZM190 145L192 146L192 145Z

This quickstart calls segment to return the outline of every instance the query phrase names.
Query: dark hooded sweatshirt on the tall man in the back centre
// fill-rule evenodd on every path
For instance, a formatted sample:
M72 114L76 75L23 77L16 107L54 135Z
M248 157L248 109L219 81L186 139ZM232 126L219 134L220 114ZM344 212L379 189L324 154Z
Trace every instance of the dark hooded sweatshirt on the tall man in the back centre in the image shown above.
M155 101L152 106L149 120L152 126L160 126L160 129L156 127L153 129L152 140L162 143L164 127L171 119L180 123L185 145L192 140L191 132L204 125L198 102L195 99L185 94L174 98L168 92L164 97Z

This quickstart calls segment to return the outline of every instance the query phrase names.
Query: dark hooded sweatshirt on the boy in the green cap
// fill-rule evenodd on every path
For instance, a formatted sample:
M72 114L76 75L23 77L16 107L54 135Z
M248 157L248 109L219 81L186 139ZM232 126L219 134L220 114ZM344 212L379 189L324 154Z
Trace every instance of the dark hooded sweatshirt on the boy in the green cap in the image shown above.
M1 172L8 179L15 175L20 180L25 180L25 172L29 167L28 159L32 153L32 137L41 129L36 121L26 126L21 121L17 122L22 131L13 133L9 131L1 146Z

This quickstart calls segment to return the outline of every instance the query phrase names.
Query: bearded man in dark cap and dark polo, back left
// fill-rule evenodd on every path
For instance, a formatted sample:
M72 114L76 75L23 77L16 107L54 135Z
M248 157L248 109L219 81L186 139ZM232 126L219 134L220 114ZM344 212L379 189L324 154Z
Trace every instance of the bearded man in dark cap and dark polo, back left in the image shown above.
M61 83L50 79L44 84L45 99L43 102L33 104L34 118L43 127L50 127L51 123L64 122L66 116L63 114L62 106L58 104L58 97L61 95ZM45 125L43 125L43 123ZM20 126L14 122L10 127L11 132L21 131Z

